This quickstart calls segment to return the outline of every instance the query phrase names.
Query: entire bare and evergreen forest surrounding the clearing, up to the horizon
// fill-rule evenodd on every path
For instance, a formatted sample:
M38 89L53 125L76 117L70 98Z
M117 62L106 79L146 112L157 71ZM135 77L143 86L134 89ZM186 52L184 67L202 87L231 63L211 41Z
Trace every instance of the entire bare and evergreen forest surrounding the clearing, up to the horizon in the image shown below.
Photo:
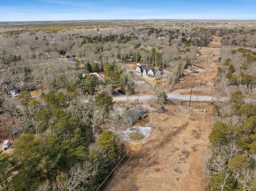
M206 20L0 23L0 138L15 142L12 152L0 154L0 190L102 190L127 152L120 136L125 116L115 111L113 90L126 96L140 91L124 63L169 71L166 86L172 89L213 35L222 37L216 95L230 101L214 102L204 189L255 190L255 26ZM104 80L92 72L104 73ZM31 82L42 89L40 96L23 91L14 98L6 89ZM159 105L166 101L161 86L152 89Z

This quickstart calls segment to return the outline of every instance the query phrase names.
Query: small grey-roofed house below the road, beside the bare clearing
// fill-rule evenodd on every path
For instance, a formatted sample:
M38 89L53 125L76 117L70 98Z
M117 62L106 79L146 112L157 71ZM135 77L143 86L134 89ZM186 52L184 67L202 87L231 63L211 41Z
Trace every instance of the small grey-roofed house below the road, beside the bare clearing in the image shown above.
M128 116L126 123L131 125L138 121L140 118L147 116L145 108L141 105L130 108L126 111L126 115Z

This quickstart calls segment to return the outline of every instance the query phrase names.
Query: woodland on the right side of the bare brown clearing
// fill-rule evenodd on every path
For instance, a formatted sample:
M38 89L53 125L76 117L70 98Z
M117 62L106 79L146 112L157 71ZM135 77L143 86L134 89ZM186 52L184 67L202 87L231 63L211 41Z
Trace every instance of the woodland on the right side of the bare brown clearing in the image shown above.
M223 34L209 153L203 164L209 191L254 191L255 179L255 49L254 29Z

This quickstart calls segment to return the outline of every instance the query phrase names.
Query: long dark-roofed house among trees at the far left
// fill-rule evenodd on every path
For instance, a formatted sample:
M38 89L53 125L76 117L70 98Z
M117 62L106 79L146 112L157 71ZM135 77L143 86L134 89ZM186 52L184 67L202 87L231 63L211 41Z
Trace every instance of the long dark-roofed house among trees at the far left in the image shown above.
M37 89L37 85L35 82L31 82L31 83L22 82L19 85L14 85L14 84L6 85L5 88L7 89L9 94L12 94L12 93L18 94L26 90L31 91L31 90Z

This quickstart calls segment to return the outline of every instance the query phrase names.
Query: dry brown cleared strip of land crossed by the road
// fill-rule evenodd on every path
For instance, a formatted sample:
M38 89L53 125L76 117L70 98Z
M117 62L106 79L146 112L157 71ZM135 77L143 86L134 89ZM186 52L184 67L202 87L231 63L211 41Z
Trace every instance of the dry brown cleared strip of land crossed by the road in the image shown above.
M200 47L202 55L196 57L193 66L184 72L182 93L196 95L199 82L199 95L212 95L216 82L221 38L214 38L208 47ZM214 56L209 56L213 53ZM128 63L135 68L136 63ZM192 71L199 70L199 73ZM154 83L150 81L150 83ZM210 88L211 87L211 88ZM209 93L210 90L210 93ZM150 91L148 92L150 93ZM168 93L180 93L180 83ZM126 161L114 171L104 190L108 191L200 191L207 184L203 177L202 163L207 151L208 136L212 126L212 104L195 102L188 108L169 103L162 114L153 111L150 100L139 101L147 110L148 116L133 126L150 126L151 136L140 145L128 144ZM120 103L121 104L121 103ZM122 102L125 106L126 102ZM129 104L138 104L130 102ZM206 109L206 112L202 110Z

